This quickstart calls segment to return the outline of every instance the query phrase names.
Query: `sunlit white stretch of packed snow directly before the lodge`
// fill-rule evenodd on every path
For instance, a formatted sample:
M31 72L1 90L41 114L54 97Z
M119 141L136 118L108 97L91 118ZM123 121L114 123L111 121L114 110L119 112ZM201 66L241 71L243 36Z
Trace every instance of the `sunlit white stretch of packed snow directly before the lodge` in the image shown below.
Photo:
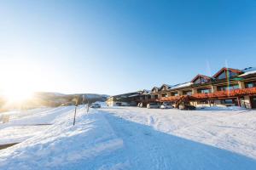
M256 111L180 111L137 107L108 109L114 116L256 159Z

